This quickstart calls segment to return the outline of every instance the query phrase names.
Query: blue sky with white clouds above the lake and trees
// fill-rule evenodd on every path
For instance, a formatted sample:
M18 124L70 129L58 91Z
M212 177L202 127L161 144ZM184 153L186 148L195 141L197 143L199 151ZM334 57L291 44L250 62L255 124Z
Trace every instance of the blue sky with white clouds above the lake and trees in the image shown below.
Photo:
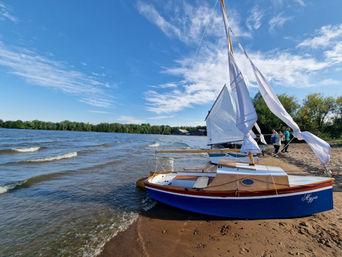
M166 124L215 2L1 1L0 118ZM342 94L341 1L225 4L277 94ZM229 84L225 44L218 3L171 126L205 124ZM252 70L233 47L254 96Z

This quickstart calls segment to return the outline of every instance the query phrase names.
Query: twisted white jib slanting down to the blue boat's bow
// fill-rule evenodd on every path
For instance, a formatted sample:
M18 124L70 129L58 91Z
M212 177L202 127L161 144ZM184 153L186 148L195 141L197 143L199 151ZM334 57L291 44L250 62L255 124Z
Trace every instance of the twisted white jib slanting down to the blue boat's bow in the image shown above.
M330 145L319 137L311 134L310 132L304 131L301 132L297 123L295 123L287 113L284 106L280 103L277 95L274 93L271 86L266 81L266 78L261 74L259 69L255 67L252 60L249 58L247 52L242 48L240 43L238 42L240 49L245 53L245 56L250 61L252 65L252 69L254 72L255 79L257 80L260 93L264 98L266 105L269 110L271 110L279 119L284 121L291 129L294 131L293 136L297 137L299 140L305 140L306 143L311 147L311 149L315 152L317 158L321 162L321 164L325 167L325 164L328 163L330 159Z

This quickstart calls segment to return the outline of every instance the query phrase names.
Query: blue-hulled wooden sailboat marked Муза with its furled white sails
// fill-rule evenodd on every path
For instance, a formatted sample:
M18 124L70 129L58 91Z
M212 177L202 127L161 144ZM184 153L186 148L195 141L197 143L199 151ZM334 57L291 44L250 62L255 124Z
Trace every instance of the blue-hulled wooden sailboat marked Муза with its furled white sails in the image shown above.
M295 137L308 143L329 177L288 175L279 167L254 163L253 154L261 152L250 134L257 121L257 114L233 56L225 6L223 0L220 1L227 36L230 85L236 103L236 128L243 134L241 149L221 151L245 152L250 163L220 159L217 166L207 171L155 172L140 182L150 197L162 203L207 215L272 219L306 216L333 209L334 179L331 178L331 171L326 169L330 146L313 134L300 131L237 41L251 63L260 92L269 109L294 130ZM156 150L156 154L215 151L217 150Z

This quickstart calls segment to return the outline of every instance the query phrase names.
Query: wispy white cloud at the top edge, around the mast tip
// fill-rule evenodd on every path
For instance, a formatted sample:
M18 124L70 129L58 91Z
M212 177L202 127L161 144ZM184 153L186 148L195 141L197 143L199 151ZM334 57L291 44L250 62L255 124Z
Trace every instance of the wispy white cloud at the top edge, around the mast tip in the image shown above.
M192 2L193 3L193 2ZM149 22L156 24L168 37L176 37L186 44L198 44L205 27L209 21L213 6L207 3L192 5L185 1L179 4L164 4L165 9L157 10L154 5L146 4L139 0L137 8ZM216 5L220 9L220 3ZM240 15L233 9L228 11L229 26L234 30L236 36L251 38L249 32L240 28ZM163 17L165 13L166 19ZM211 37L221 37L224 35L221 12L215 11L211 17L206 35Z

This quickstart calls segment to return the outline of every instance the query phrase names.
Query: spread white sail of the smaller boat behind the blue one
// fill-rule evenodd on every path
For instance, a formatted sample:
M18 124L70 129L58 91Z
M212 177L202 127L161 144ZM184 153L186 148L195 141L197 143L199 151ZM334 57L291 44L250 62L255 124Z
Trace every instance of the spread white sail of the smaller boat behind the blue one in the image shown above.
M244 133L236 127L236 107L226 85L212 106L206 123L208 145L244 140ZM252 131L250 134L256 137Z

